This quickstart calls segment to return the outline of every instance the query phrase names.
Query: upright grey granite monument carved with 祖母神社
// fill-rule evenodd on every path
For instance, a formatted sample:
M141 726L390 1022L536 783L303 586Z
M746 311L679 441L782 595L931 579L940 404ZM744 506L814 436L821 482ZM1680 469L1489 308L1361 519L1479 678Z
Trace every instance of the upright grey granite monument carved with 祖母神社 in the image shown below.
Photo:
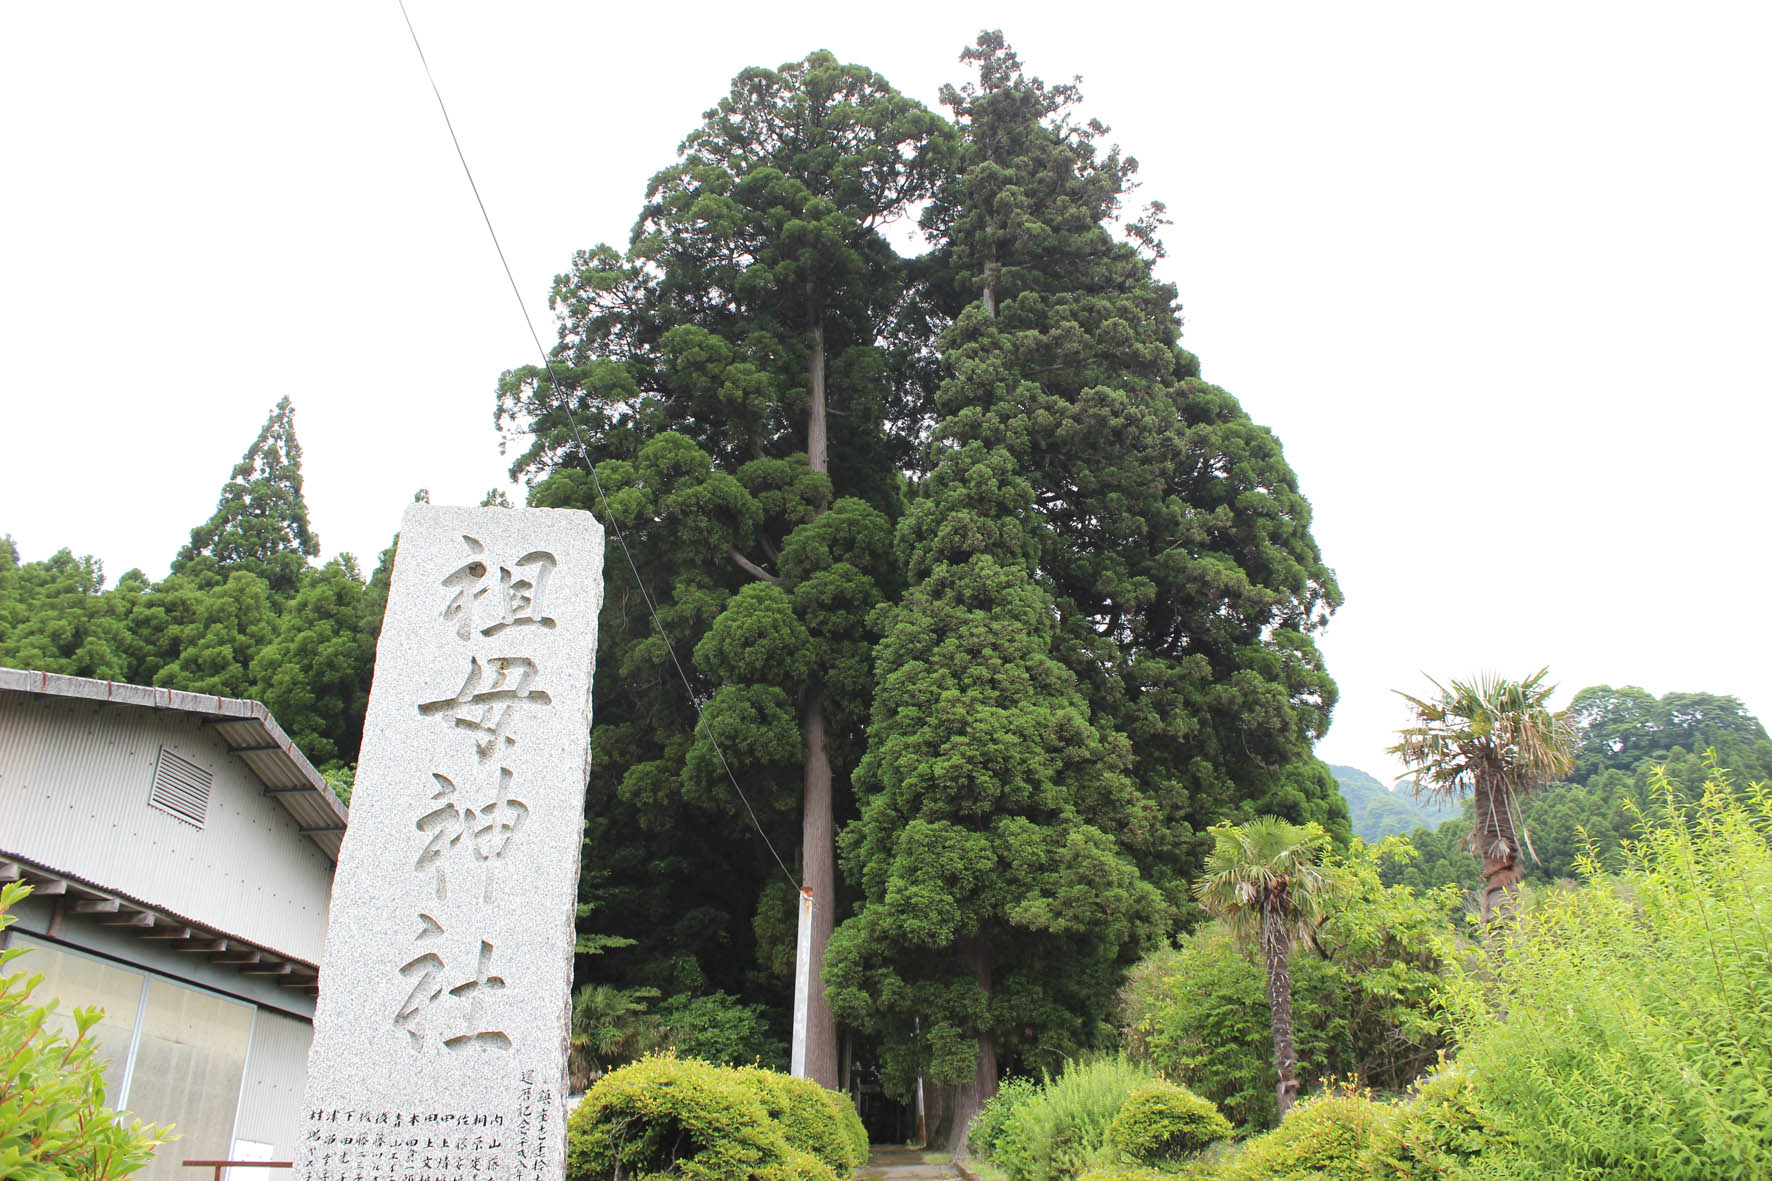
M602 527L415 504L333 880L303 1181L558 1181Z

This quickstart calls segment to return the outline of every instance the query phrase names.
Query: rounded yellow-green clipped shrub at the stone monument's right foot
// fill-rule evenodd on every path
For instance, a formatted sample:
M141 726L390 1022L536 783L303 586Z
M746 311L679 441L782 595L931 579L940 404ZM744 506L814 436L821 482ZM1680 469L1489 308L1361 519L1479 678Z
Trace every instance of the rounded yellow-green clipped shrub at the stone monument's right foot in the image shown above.
M858 1126L817 1083L657 1055L604 1075L572 1108L567 1177L835 1181L867 1154Z

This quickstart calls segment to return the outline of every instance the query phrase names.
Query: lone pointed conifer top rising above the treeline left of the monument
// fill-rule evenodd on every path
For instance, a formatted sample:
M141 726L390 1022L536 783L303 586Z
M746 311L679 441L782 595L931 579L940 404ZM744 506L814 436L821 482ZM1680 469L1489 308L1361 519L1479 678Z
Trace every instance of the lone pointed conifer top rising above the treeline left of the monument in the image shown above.
M179 550L172 573L184 573L197 559L211 557L223 576L236 569L257 575L278 599L285 599L296 592L307 560L319 551L321 543L308 528L308 505L301 498L296 411L284 397L222 486L214 516L193 528L190 544Z

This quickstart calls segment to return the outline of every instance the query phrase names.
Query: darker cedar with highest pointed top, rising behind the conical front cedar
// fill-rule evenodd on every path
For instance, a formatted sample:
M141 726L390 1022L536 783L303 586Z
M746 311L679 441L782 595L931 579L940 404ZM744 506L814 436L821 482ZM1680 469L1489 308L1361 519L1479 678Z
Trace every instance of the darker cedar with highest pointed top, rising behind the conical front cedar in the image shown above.
M1178 346L1161 206L1125 225L1136 161L1099 151L1076 87L1022 73L1003 35L964 53L948 87L964 167L925 215L964 316L946 353L999 339L989 372L941 387L943 433L1005 450L1033 488L1037 580L1054 599L1054 653L1093 715L1132 743L1120 833L1145 878L1191 908L1209 828L1256 814L1317 821L1347 841L1347 805L1311 741L1334 683L1313 633L1341 592L1310 532L1279 442Z

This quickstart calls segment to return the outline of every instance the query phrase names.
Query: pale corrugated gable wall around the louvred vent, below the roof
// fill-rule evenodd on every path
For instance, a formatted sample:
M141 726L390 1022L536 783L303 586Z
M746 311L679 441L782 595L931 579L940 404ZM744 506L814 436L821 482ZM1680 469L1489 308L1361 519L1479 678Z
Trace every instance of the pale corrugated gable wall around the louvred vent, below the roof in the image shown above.
M183 713L0 693L0 849L319 963L331 862L262 794L220 729ZM147 803L161 743L214 771L202 830Z

